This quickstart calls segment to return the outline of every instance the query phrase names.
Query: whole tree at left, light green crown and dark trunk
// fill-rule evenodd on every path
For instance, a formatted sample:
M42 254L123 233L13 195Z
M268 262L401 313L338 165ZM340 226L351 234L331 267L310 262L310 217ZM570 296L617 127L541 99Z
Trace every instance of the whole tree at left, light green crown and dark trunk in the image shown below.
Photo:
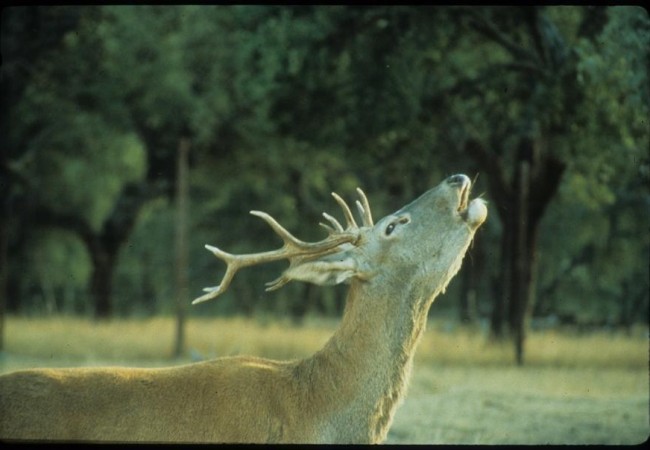
M101 317L110 312L112 271L137 211L129 197L142 189L146 162L137 135L105 114L114 86L99 82L101 54L92 32L97 13L81 9L77 27L33 62L38 70L12 105L12 141L24 149L12 169L28 180L27 221L67 228L86 245L94 268L90 291Z

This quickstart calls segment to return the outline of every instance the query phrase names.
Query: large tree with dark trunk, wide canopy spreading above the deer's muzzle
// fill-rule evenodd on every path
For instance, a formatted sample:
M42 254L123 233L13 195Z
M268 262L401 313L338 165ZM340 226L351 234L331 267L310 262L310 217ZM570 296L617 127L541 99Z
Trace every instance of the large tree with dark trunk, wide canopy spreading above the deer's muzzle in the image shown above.
M638 111L647 112L647 16L580 7L306 7L269 15L274 20L263 23L292 49L273 91L280 133L306 149L321 142L352 149L344 159L364 181L397 196L440 178L423 168L463 164L461 150L486 175L502 223L493 331L507 325L523 362L539 227L563 176L582 173L589 189L607 191L608 168L625 180L630 160L646 158L639 118L647 114Z

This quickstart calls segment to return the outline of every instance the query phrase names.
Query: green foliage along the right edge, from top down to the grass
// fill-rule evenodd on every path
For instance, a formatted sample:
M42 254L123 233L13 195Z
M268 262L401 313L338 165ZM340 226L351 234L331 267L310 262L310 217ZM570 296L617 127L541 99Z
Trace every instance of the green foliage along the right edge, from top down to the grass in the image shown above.
M609 8L599 38L575 47L583 103L563 145L572 173L545 218L540 301L579 320L625 321L635 303L647 314L649 48L634 7Z

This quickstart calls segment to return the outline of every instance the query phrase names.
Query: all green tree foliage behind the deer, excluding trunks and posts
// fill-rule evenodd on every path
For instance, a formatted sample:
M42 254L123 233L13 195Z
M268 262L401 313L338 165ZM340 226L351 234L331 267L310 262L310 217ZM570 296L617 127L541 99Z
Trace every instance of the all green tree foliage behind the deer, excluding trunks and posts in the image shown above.
M38 11L51 17L55 10ZM590 9L539 7L540 29L566 52L547 55L537 72L473 25L486 18L533 52L526 8L56 11L68 28L47 40L24 36L18 25L3 30L14 58L9 69L21 51L34 56L20 89L11 91L9 165L29 180L12 192L31 209L75 216L94 231L109 217L137 214L114 279L120 312L171 310L174 204L158 198L139 212L120 208L127 188L161 192L165 185L162 192L173 192L181 137L192 146L190 284L197 295L223 270L203 244L232 252L279 246L249 210L269 212L300 238L320 239L320 214L339 215L332 190L353 199L362 187L380 217L445 175L481 172L460 151L468 136L494 147L505 167L521 136L544 136L568 166L540 230L542 306L611 317L617 301L636 298L645 286L634 283L648 254L650 21L641 9L608 8L602 29L590 22L595 31L586 33ZM26 23L22 12L11 17ZM487 181L482 175L479 186ZM492 300L487 280L500 264L496 216L477 244L488 255L479 282L485 313ZM44 280L48 266L52 285L70 284L65 273L72 272L75 289L87 282L89 257L79 241L40 234L27 217L13 222L21 237L16 254L30 268L26 279ZM53 264L29 256L34 242L39 258ZM264 282L282 268L243 271L206 308L296 311L302 297L307 310L340 307L332 300L337 291L314 294L299 284L269 298ZM27 284L19 284L14 291L27 295Z

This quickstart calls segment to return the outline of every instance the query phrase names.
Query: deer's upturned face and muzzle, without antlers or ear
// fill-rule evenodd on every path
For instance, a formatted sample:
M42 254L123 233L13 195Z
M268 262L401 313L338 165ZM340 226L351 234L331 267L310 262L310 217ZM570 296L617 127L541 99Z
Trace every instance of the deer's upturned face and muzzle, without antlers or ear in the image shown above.
M377 221L365 244L349 251L372 280L368 287L424 300L444 291L487 218L485 202L470 200L471 188L466 175L453 175Z

